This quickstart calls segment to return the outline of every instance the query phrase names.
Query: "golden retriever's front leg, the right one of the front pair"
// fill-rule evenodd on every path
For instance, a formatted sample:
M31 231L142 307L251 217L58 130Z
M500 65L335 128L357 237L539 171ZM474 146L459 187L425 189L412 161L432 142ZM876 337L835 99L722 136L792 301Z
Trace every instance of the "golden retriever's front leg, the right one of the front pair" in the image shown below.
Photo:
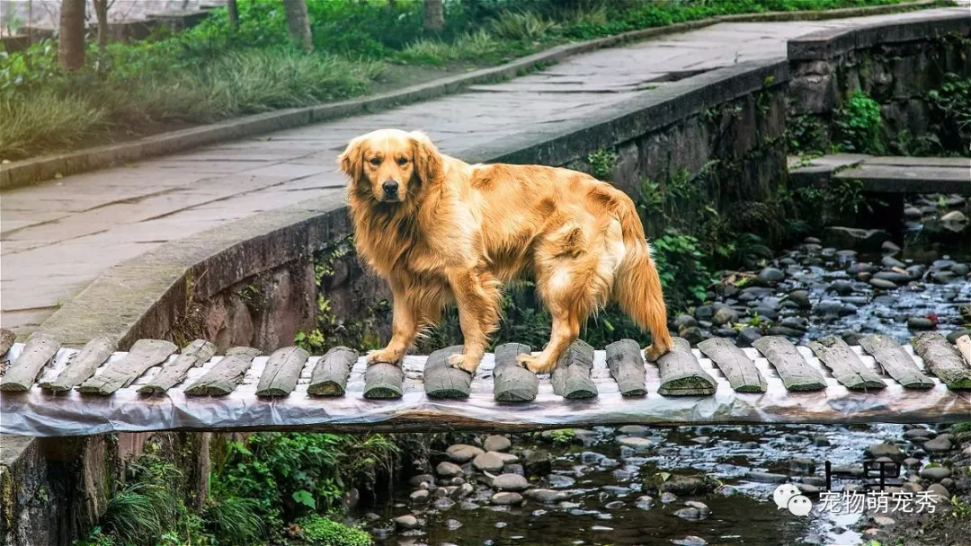
M499 282L490 273L463 270L451 273L449 284L458 306L458 322L464 338L462 354L449 357L449 364L475 373L485 354L488 335L498 327L502 296Z

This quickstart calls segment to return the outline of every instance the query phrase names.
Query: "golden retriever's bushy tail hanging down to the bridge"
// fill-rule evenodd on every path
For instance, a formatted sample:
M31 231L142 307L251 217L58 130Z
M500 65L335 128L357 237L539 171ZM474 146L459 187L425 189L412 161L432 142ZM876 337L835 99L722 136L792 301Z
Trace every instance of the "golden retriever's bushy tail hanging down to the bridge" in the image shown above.
M651 258L651 247L637 217L634 203L624 196L617 209L625 254L614 281L620 308L642 330L651 332L652 345L646 352L649 360L666 353L673 346L667 327L667 305L661 290L661 279Z

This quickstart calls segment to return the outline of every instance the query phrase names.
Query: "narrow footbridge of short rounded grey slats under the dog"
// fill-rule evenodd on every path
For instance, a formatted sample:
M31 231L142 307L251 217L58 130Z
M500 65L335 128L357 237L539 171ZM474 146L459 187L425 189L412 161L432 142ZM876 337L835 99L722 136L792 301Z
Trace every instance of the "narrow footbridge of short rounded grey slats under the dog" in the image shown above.
M347 347L258 356L197 339L180 348L140 339L114 352L105 337L80 350L47 334L0 351L0 432L34 436L149 431L514 432L596 425L931 423L971 418L971 337L924 333L909 345L871 335L795 346L761 337L675 347L646 363L637 342L605 350L576 341L546 376L506 343L473 377L449 367L452 346L367 366Z

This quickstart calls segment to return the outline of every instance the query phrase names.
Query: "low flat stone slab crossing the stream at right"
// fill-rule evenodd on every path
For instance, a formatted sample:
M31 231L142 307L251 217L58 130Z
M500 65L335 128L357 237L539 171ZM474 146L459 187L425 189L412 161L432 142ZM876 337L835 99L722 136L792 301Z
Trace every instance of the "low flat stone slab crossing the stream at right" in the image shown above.
M967 157L873 157L824 155L789 171L791 187L824 186L831 180L859 180L873 193L949 193L971 195Z

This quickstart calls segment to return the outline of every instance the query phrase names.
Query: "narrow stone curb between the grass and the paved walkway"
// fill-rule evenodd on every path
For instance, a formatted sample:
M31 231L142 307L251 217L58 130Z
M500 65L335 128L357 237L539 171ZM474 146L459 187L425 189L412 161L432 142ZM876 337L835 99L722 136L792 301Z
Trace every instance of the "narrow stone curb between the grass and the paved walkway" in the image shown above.
M279 131L281 129L298 127L308 123L317 123L364 112L385 110L395 106L456 93L469 85L514 78L518 75L531 72L537 67L554 64L569 56L587 51L599 48L610 48L627 42L647 40L665 34L686 32L720 22L816 20L849 16L873 16L929 8L935 5L938 5L936 0L921 0L919 2L905 4L871 8L849 8L826 12L780 12L716 16L669 26L634 30L617 36L559 46L522 57L505 65L485 68L441 80L429 81L375 97L299 109L259 113L225 120L215 124L162 133L130 143L102 145L57 155L16 161L0 167L0 189L16 188L49 180L57 175L75 175L130 163L147 157L242 139L272 131Z

